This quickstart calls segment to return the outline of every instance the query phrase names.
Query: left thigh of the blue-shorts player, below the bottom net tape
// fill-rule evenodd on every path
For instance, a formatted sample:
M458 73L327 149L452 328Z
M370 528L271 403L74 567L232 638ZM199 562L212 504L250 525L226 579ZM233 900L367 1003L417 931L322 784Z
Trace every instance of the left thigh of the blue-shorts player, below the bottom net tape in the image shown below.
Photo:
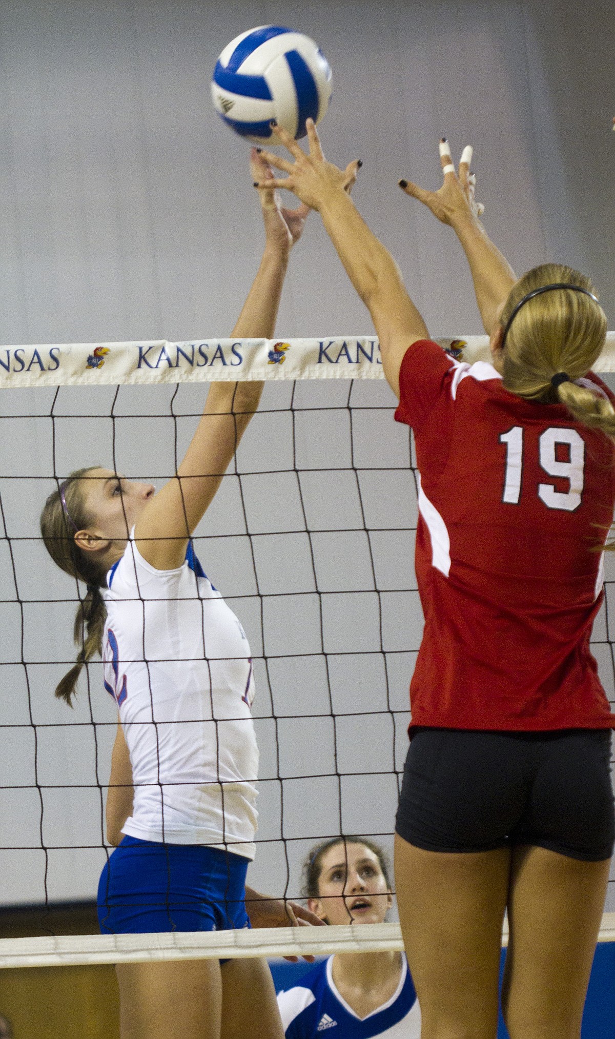
M122 1039L219 1039L217 960L122 963L115 970Z

